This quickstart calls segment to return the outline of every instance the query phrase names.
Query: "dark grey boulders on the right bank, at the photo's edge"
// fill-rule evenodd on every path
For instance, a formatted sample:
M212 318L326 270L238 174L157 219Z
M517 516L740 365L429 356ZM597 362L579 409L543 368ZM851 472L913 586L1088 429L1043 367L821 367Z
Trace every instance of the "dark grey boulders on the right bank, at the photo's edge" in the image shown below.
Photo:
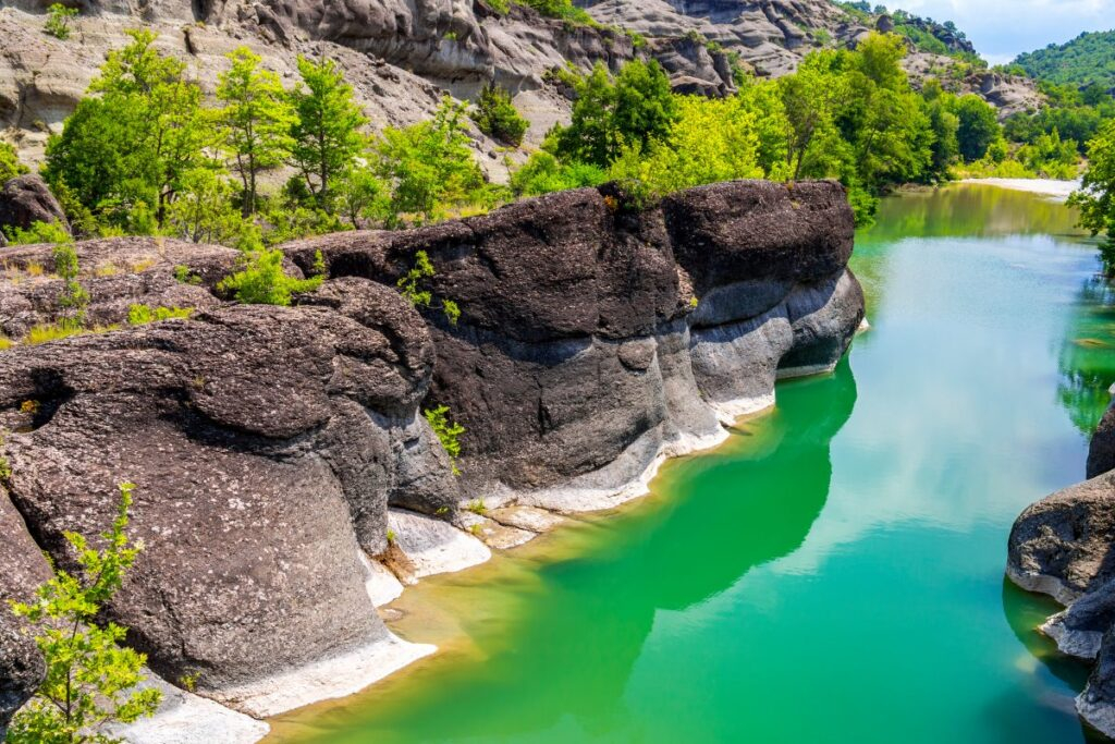
M1010 533L1007 576L1066 610L1041 630L1069 656L1094 661L1076 698L1080 717L1115 738L1115 462L1108 409L1092 441L1088 481L1031 505Z

